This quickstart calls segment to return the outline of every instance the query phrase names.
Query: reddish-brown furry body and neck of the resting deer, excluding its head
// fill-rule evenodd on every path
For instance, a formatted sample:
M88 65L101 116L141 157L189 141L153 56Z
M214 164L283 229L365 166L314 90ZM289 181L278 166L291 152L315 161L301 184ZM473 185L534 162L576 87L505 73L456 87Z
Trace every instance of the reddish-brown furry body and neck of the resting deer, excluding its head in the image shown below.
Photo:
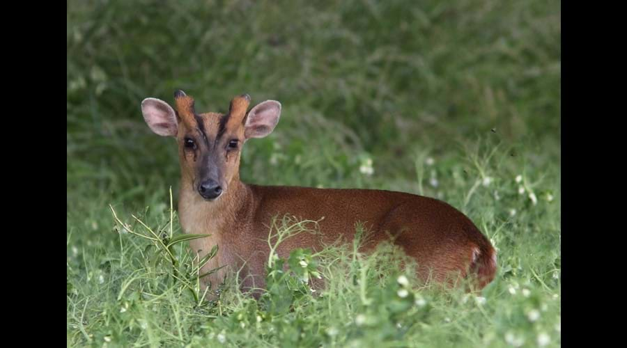
M232 184L230 192L235 199L225 199L223 206L211 207L195 198L195 192L181 191L180 221L185 232L212 234L191 242L195 252L202 255L202 251L219 245L217 258L203 272L228 265L231 270L240 271L246 288L265 287L270 222L273 216L284 214L324 219L318 223L320 235L304 233L286 239L277 250L281 258L294 248L316 251L338 239L350 241L355 223L361 221L372 231L364 251L392 240L417 260L419 277L424 280L444 282L456 271L464 278L473 267L480 272L479 288L494 277L495 251L488 239L464 214L440 200L393 191L263 187L242 182ZM239 204L231 204L235 202ZM219 216L214 209L219 209ZM225 267L208 276L206 284L221 283L226 271Z

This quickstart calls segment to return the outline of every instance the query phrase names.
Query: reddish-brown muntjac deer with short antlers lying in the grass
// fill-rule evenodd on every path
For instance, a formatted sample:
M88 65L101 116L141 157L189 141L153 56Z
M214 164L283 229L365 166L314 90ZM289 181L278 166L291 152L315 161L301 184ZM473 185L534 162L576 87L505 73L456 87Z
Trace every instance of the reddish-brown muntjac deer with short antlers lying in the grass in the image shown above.
M355 233L355 223L366 221L372 230L368 246L389 240L418 264L423 280L447 283L449 275L472 277L475 289L485 287L496 271L496 253L488 239L463 213L440 200L409 193L366 189L314 189L257 186L240 181L242 146L262 138L279 122L281 104L266 100L248 110L249 95L231 100L229 112L196 113L194 100L182 90L174 93L176 111L166 102L141 102L144 120L160 136L174 136L180 159L178 215L183 232L210 234L190 242L203 258L214 246L217 255L202 273L223 267L203 278L203 290L217 287L228 267L242 276L242 287L263 288L268 260L268 226L273 216L291 214L319 220L320 234L286 239L279 256L294 248L319 250ZM243 272L242 272L243 271ZM211 289L210 289L211 290Z

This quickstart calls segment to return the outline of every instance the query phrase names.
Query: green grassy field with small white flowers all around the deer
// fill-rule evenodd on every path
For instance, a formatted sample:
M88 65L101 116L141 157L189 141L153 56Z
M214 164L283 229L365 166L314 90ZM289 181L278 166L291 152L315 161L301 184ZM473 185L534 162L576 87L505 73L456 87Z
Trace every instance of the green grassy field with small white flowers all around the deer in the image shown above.
M537 0L68 1L68 347L559 346L560 20ZM294 253L307 267L260 301L202 301L187 242L173 265L141 236L180 234L176 144L139 109L175 88L201 111L283 104L243 181L440 198L493 241L497 278L438 292L355 242Z

